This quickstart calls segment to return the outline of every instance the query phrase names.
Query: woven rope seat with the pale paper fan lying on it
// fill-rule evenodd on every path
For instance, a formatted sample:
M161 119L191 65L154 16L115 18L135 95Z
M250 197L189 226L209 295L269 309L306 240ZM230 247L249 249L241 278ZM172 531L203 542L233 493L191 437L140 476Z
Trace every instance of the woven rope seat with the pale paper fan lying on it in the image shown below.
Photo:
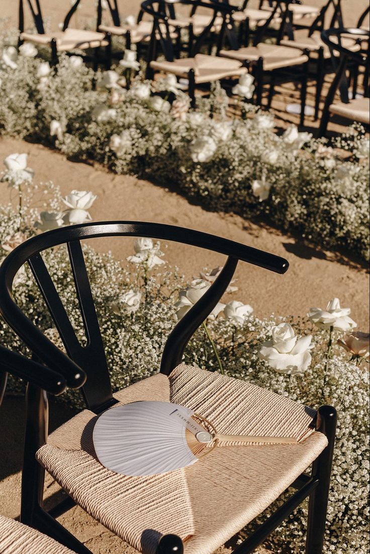
M327 445L325 435L314 430L311 408L183 364L169 377L158 373L115 398L115 406L145 400L182 404L219 433L286 435L300 442L221 442L187 468L130 477L97 460L92 435L99 416L93 412L86 409L56 429L37 459L91 516L146 554L168 533L183 539L186 554L210 554L268 507Z

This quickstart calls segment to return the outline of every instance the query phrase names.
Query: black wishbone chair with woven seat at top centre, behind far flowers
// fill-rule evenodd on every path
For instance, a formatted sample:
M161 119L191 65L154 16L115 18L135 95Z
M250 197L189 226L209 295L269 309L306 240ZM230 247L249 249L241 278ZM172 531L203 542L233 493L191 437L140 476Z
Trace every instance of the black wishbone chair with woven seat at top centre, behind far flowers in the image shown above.
M178 51L177 45L173 44L171 38L171 25L168 13L165 10L164 3L156 12L153 9L155 0L145 0L141 4L143 11L154 18L151 43L148 51L148 64L146 77L153 79L154 71L163 71L172 73L178 78L188 79L188 93L191 98L191 105L195 105L196 85L209 84L214 81L233 79L246 73L246 68L238 60L225 60L218 56L201 54L200 50L205 45L207 37L213 32L216 20L222 16L223 23L219 37L223 33L226 24L226 16L233 13L234 8L230 8L223 2L203 2L203 0L180 0L178 3L184 6L196 6L209 10L212 17L208 25L196 37L192 33L192 24L189 24L189 45L188 58L176 58ZM158 46L161 47L164 61L157 61Z

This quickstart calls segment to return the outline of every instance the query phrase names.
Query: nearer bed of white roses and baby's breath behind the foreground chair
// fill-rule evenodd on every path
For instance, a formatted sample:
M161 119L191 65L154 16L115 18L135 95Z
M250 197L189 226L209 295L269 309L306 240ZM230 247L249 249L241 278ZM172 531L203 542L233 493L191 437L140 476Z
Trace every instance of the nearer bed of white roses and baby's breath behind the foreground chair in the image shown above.
M86 220L87 210L95 201L88 191L72 191L61 198L53 183L33 186L33 173L27 162L25 155L7 158L3 179L12 191L18 191L22 203L17 208L11 204L0 206L0 261L25 238L37 233L40 217L44 222L54 220L54 226L65 225L71 213L79 211L80 219ZM43 212L30 208L35 203ZM55 214L60 216L54 217ZM147 238L133 243L125 268L111 254L98 254L91 248L84 248L84 253L112 385L121 389L158 371L169 332L208 290L220 268L203 270L199 279L187 284L177 268L166 264L160 243ZM48 250L43 257L83 341L66 249ZM337 408L324 552L367 554L369 335L353 331L356 323L350 317L350 309L341 307L338 299L328 302L325 310L307 310L307 319L271 316L261 320L251 306L237 300L237 290L230 284L223 299L227 303L220 302L196 332L186 348L184 361L248 380L315 408L320 404ZM28 267L16 276L14 296L35 324L60 345L51 317L41 308L44 302ZM13 350L25 351L2 320L0 341ZM14 391L21 387L14 379L10 386ZM63 398L82 405L78 392L69 392ZM266 515L268 512L261 519ZM304 551L306 516L304 505L269 538L274 552ZM256 521L241 535L248 534L255 524Z

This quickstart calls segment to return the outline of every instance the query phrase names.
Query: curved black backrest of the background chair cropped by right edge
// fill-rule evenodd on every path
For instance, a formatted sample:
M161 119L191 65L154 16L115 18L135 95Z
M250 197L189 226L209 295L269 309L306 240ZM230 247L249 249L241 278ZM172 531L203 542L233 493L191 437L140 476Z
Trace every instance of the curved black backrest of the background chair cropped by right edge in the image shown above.
M348 48L343 47L341 35L346 37L350 35L354 39L357 37L363 37L366 35L370 37L370 33L363 29L328 29L321 32L321 38L323 42L330 48L334 67L336 67L336 74L330 85L330 88L326 95L325 105L323 112L328 110L328 107L332 104L336 91L340 90L341 101L348 104L350 102L348 95L348 81L346 78L346 69L348 60L351 60L358 65L368 67L368 55L363 52L352 52ZM333 40L335 38L335 40ZM340 54L339 63L334 55L334 51ZM368 76L367 76L368 77Z

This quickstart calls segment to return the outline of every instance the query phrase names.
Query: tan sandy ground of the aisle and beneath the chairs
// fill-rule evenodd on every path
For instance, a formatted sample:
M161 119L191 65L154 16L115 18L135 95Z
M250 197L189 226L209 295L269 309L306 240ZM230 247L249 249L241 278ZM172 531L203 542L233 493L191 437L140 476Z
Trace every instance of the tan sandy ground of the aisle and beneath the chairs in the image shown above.
M251 2L252 6L254 2ZM311 4L321 6L322 1L312 0ZM0 17L9 16L11 24L17 23L17 4L13 0L0 0ZM43 2L44 15L50 17L52 28L63 19L69 9L69 1L47 0ZM138 0L119 1L121 13L127 16L136 13ZM353 25L358 14L366 7L366 0L343 0L343 12L348 25ZM78 20L83 24L94 16L93 0L83 0L78 12ZM295 116L288 116L285 105L298 98L293 85L285 85L274 97L274 113L279 126L287 122L297 122ZM311 97L310 97L311 93ZM308 104L312 102L309 89ZM339 122L340 123L340 122ZM317 125L307 120L307 130ZM333 129L341 130L341 126ZM190 204L176 192L130 176L112 175L99 166L75 163L59 153L40 145L18 140L0 139L0 159L13 152L27 152L29 165L39 181L52 179L66 194L72 189L89 189L98 195L90 209L94 220L150 220L174 225L183 225L205 232L219 234L253 247L268 250L289 260L290 269L286 275L275 275L266 270L243 263L237 269L239 290L227 300L238 299L254 307L255 314L263 317L271 312L279 315L304 316L310 306L325 306L327 301L338 296L343 306L351 306L352 317L358 328L366 331L369 321L369 279L366 270L356 261L320 249L305 247L299 238L281 234L267 225L251 224L233 214L207 212L202 207ZM159 183L160 185L160 183ZM0 202L8 201L6 187L0 188ZM111 249L116 257L125 260L132 252L130 239L101 239L95 242L100 250ZM165 259L176 264L187 279L198 275L207 266L213 268L223 263L218 254L204 254L202 250L168 243ZM73 411L60 404L52 404L50 428L53 430ZM24 401L8 397L0 408L0 512L9 517L19 515L20 468L22 459L22 437L24 424ZM45 496L47 506L60 499L59 487L47 476ZM78 507L70 510L60 521L73 534L78 536L94 554L135 554L119 538L85 514ZM220 548L218 554L227 554L227 547Z

